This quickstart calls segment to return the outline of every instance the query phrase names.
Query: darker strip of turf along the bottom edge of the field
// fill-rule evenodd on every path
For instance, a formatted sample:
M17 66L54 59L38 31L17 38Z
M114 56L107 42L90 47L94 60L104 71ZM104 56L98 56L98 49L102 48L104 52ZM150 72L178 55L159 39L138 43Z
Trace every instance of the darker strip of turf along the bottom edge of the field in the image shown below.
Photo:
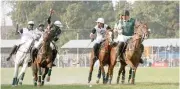
M12 87L2 85L1 89L178 89L178 83L137 83L136 85L46 85L43 87L34 87L32 85L23 85Z

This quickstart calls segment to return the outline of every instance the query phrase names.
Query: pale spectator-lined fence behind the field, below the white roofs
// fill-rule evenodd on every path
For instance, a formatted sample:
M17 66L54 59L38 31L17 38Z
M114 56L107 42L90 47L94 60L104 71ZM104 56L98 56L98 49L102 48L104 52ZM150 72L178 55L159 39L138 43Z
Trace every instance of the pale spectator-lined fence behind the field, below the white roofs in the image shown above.
M142 57L144 60L144 64L140 66L162 66L164 67L177 67L179 66L179 57L177 59L173 58L173 54L163 54L169 55L166 59L160 56L161 52L156 52L151 54L151 57L146 58ZM11 59L10 61L6 61L8 54L1 54L1 67L14 67L14 61ZM77 60L77 54L58 54L55 60L55 64L57 67L89 67L90 64L90 54L79 54L79 60ZM170 58L170 59L168 59ZM98 65L98 63L96 63ZM119 63L117 64L119 66Z

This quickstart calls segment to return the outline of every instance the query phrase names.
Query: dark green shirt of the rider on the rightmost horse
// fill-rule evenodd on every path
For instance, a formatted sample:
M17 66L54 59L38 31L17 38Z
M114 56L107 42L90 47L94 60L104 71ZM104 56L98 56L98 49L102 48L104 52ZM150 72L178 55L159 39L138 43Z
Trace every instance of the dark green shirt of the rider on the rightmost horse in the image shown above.
M135 19L130 18L127 21L121 21L123 32L125 36L132 36L134 34Z

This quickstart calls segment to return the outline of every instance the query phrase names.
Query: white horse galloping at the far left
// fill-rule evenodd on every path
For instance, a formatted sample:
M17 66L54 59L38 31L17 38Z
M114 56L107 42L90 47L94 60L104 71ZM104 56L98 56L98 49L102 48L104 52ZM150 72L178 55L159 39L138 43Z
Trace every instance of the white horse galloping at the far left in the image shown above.
M19 49L16 52L14 62L15 62L15 67L14 67L14 76L13 76L13 86L17 86L18 83L22 85L22 81L25 76L25 71L31 63L31 58L30 58L30 50L32 46L34 45L34 39L29 39L27 42L23 43L20 45ZM22 65L22 69L18 75L19 67Z

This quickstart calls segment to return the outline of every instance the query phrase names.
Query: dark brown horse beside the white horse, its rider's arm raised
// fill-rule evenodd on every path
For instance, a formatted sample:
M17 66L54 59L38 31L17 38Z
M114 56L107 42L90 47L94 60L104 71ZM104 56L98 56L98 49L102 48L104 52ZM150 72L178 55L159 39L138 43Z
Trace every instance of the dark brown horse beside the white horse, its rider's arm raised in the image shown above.
M34 76L34 85L44 85L44 78L48 73L47 81L50 81L50 75L52 71L52 49L50 47L51 42L51 33L50 28L47 28L45 33L43 34L43 42L42 46L38 51L37 58L35 58L32 69L33 69L33 76ZM42 69L44 72L42 74ZM38 76L37 76L38 74Z

